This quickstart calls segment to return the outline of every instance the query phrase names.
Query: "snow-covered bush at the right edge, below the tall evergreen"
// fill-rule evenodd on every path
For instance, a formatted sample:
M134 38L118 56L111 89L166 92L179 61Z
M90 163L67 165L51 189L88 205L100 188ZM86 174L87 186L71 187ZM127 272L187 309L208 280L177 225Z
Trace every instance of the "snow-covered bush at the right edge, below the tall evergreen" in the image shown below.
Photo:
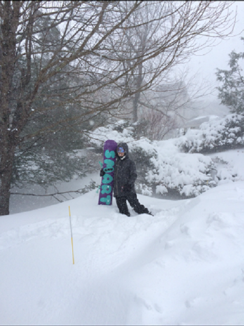
M201 124L199 130L189 129L176 145L183 152L207 153L244 145L244 115L226 115Z

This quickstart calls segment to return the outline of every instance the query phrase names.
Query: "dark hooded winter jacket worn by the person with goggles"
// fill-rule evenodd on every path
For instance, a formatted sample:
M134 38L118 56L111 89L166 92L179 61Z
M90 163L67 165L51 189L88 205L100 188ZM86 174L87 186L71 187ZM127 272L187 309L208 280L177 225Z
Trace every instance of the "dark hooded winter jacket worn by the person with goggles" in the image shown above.
M135 163L129 158L129 149L126 143L118 144L125 150L125 156L120 157L116 151L116 163L114 168L114 196L126 196L136 193L135 181L137 170Z

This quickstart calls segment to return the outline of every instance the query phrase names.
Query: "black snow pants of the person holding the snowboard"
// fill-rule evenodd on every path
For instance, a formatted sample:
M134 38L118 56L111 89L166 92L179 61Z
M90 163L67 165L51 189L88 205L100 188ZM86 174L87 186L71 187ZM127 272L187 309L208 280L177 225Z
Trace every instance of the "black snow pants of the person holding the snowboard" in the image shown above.
M130 206L138 214L149 213L148 209L145 208L145 206L143 206L142 204L140 204L136 193L131 192L125 196L116 196L115 198L116 198L116 204L121 214L130 216L126 200L128 200Z

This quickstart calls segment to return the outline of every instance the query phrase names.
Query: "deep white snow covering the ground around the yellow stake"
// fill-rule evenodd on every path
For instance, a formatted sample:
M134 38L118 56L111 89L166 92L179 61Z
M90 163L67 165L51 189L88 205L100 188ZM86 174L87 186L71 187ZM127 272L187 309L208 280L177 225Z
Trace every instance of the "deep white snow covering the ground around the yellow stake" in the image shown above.
M0 216L0 325L244 325L243 152L217 154L240 181L139 195L154 216L97 205L96 190Z

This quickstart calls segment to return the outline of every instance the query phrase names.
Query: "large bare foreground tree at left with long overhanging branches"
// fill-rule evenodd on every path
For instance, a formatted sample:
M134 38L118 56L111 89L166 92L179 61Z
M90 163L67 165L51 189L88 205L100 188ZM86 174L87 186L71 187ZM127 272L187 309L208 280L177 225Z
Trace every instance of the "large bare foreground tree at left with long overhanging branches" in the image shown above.
M227 1L153 4L155 17L133 21L149 2L0 1L0 215L9 213L17 150L118 109L199 49L199 36L223 37L233 22ZM157 24L143 50L128 53L126 29L138 35ZM143 83L134 85L133 74ZM67 106L76 114L67 116ZM30 128L37 115L44 123Z

